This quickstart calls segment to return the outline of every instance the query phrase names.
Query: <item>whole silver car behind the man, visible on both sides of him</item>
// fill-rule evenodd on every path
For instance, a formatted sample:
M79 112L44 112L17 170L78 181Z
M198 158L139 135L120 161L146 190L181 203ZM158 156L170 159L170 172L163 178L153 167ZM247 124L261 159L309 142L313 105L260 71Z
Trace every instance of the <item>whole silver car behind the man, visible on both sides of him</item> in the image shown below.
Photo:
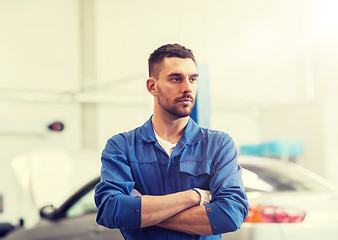
M337 240L338 190L318 175L292 163L240 156L250 211L240 230L226 240ZM33 228L13 231L6 240L122 240L117 229L95 222L97 177L59 208L41 209Z

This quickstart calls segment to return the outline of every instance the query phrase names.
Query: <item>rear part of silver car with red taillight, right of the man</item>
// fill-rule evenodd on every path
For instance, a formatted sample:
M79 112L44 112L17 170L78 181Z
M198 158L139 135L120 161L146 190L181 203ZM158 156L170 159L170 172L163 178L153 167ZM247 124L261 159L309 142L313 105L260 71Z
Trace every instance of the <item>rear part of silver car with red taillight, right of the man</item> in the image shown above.
M299 165L241 156L250 211L228 240L337 240L338 189Z

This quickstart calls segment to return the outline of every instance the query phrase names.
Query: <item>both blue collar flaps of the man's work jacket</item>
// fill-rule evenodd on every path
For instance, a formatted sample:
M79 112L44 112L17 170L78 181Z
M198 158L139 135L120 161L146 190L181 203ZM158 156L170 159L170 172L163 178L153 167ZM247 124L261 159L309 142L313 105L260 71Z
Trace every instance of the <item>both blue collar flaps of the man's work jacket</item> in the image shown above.
M156 142L156 137L154 133L154 128L152 124L153 116L151 116L148 121L146 121L141 127L140 127L140 137L146 141L146 142ZM191 145L195 142L201 140L204 137L203 129L197 125L197 123L189 117L189 121L187 126L185 127L183 136L179 140L180 143Z

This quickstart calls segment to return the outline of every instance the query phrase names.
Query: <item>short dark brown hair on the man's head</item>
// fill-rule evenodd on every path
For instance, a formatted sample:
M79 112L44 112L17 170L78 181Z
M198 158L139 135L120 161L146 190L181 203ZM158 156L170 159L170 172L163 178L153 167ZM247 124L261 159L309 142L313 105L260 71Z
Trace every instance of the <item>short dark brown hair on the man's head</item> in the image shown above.
M192 50L177 43L166 44L150 54L148 59L149 77L156 76L156 78L158 78L159 72L156 70L156 65L161 64L163 59L166 57L190 58L196 64Z

